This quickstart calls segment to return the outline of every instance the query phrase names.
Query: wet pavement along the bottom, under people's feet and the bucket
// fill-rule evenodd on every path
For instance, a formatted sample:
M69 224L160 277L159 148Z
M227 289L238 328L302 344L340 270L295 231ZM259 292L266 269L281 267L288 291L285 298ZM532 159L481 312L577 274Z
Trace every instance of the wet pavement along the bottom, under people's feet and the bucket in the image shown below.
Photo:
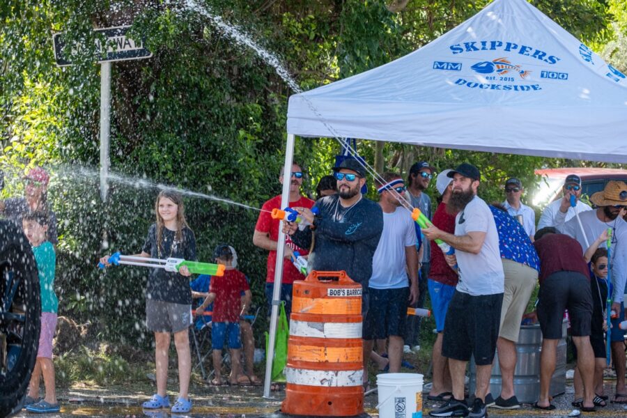
M132 392L130 389L121 388L81 388L68 389L59 392L61 402L61 413L43 414L42 417L220 417L220 418L256 418L256 417L284 417L278 412L281 401L285 396L284 391L273 392L276 399L263 398L263 388L261 387L201 387L196 385L192 388L190 397L194 402L191 414L171 414L169 411L148 411L142 410L141 402L145 401L150 394ZM605 393L612 394L612 382L606 382ZM176 394L171 393L172 400ZM424 396L426 398L426 394ZM365 411L370 417L379 417L376 410L377 395L366 396ZM523 405L518 410L496 410L488 409L490 417L568 417L574 416L573 407L573 386L568 381L566 394L557 396L553 404L557 409L552 411L534 410L531 405ZM438 407L438 403L426 401L424 403L424 416L427 412ZM581 417L627 417L627 410L624 405L610 403L605 408L597 408L597 412L582 412ZM33 414L22 412L16 417L33 417ZM381 417L388 418L388 417ZM393 417L392 417L393 418Z

